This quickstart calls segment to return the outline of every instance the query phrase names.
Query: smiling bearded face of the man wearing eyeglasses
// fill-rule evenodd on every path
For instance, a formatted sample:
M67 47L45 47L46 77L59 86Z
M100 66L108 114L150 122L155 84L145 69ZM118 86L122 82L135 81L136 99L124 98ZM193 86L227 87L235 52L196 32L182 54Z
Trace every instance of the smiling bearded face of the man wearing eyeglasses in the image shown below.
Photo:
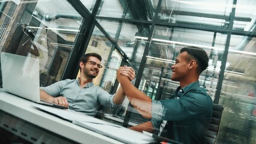
M96 62L96 65L93 65L88 61ZM94 79L100 71L100 68L97 67L97 64L100 64L100 60L94 56L90 56L88 61L84 63L84 67L82 67L81 70L84 72L85 77Z

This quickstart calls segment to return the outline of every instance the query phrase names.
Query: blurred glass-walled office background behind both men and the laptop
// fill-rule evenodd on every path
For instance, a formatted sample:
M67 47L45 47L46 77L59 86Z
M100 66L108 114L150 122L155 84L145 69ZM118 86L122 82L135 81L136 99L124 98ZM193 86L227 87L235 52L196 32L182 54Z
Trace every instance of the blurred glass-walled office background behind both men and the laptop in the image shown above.
M76 79L79 58L96 52L95 85L114 94L116 70L129 65L153 100L179 85L170 80L179 50L202 47L210 62L200 85L225 107L217 143L256 143L255 0L2 0L0 26L1 52L40 59L41 86ZM127 100L101 112L124 127L147 121Z

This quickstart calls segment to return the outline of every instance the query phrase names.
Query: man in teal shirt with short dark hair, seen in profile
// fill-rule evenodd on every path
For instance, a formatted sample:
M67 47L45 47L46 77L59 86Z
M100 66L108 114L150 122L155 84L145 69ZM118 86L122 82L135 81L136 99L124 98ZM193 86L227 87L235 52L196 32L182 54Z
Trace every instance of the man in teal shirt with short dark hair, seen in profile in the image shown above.
M172 65L171 80L180 82L175 95L169 100L151 100L121 76L117 79L130 103L151 121L131 127L136 131L148 131L181 143L204 143L206 131L212 119L212 98L198 81L208 67L207 53L198 47L184 47Z

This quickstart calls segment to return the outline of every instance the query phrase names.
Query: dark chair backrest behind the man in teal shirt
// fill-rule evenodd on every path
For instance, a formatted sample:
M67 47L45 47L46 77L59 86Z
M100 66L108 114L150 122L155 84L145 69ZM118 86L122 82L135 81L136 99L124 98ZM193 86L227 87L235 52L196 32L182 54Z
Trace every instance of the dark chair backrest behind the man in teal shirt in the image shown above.
M223 109L224 109L224 106L220 104L213 104L212 121L209 124L207 134L206 134L207 144L214 144L217 140Z

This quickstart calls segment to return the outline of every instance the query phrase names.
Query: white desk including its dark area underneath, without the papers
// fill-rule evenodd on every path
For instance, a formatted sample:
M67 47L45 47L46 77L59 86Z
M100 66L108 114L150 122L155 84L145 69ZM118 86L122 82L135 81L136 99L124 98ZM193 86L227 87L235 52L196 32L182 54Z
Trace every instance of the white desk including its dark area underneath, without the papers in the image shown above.
M100 144L122 143L31 107L37 105L37 103L0 91L0 110L17 117L1 112L0 126L32 143L72 143L72 141ZM19 121L19 119L24 121ZM50 134L46 130L55 133L59 138L53 138L55 134ZM61 137L66 137L72 141L67 142Z

